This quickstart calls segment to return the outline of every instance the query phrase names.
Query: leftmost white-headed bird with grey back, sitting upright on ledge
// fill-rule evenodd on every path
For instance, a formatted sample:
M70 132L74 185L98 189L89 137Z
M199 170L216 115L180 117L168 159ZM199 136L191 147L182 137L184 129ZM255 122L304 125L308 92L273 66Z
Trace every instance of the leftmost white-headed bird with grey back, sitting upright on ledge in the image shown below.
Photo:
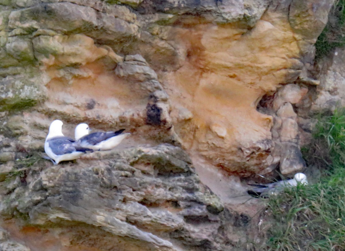
M44 157L45 159L57 165L60 161L75 160L84 153L93 152L92 149L81 147L75 140L65 137L62 134L62 125L61 120L51 122L44 145L44 150L49 158Z

